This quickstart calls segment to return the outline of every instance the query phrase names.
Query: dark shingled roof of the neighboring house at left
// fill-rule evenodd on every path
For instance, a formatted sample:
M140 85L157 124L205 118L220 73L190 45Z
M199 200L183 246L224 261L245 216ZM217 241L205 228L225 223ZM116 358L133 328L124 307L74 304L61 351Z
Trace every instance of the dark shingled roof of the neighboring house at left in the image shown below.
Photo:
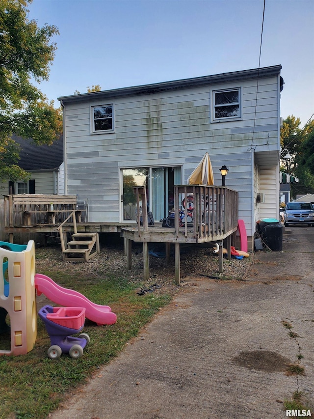
M63 162L63 135L52 145L36 145L31 139L23 139L17 135L12 140L21 146L18 165L27 171L54 170Z

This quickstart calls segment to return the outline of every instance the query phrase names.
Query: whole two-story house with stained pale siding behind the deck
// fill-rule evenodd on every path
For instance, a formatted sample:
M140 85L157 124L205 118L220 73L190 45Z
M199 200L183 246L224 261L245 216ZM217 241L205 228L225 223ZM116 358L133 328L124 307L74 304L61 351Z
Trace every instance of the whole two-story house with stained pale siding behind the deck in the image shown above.
M173 186L209 152L215 184L239 193L249 249L256 222L279 213L281 66L60 97L65 193L89 203L89 221L135 220L133 186L146 184L155 220ZM259 195L258 195L259 194Z

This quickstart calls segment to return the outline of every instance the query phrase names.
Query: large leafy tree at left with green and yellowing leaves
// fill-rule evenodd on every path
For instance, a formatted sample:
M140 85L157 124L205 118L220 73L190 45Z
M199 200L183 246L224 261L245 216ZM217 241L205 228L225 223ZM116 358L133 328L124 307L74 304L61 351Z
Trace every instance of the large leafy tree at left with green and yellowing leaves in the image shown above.
M28 20L32 0L0 0L0 179L26 180L12 134L52 144L62 132L62 112L31 81L49 79L58 34L55 26Z

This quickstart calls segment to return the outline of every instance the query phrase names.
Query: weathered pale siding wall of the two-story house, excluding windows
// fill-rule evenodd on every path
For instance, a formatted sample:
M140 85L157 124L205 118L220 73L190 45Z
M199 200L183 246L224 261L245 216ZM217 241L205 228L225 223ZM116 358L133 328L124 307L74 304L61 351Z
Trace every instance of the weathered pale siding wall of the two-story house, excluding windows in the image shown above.
M121 222L121 168L181 166L186 183L209 152L215 184L221 185L219 168L226 165L226 186L239 192L239 218L247 234L254 234L254 156L279 150L279 78L278 74L258 83L242 80L105 100L100 92L99 100L94 95L92 100L84 96L81 102L68 101L65 192L88 199L91 222ZM241 88L242 118L213 122L212 91L235 87ZM91 134L91 106L105 104L114 107L114 132ZM275 166L269 170L276 182ZM273 201L272 195L273 191Z

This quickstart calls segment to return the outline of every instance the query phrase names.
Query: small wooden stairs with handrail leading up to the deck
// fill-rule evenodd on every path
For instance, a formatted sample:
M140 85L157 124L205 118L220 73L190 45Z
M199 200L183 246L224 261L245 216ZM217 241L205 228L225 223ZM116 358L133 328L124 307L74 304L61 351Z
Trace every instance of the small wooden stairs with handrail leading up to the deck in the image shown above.
M62 226L70 218L73 219L74 234L72 234L72 240L67 242L67 235L62 231ZM58 230L60 233L63 260L87 262L96 254L100 254L98 233L78 233L75 212L59 225Z

